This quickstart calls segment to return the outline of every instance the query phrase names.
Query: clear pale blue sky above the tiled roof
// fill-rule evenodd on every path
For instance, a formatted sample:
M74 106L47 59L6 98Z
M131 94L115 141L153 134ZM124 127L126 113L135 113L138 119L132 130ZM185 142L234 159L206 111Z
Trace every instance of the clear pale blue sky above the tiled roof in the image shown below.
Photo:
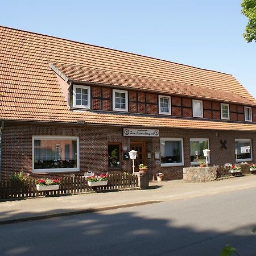
M1 26L230 73L256 98L240 0L1 0Z

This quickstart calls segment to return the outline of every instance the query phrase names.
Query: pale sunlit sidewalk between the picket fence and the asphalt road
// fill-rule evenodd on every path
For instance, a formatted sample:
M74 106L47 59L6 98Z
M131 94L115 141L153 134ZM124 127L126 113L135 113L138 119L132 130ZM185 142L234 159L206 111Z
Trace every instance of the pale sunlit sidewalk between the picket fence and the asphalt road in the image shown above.
M2 201L0 202L0 224L189 199L246 188L256 188L256 175L208 183L186 183L183 180L159 183L153 181L150 183L150 189L147 190Z

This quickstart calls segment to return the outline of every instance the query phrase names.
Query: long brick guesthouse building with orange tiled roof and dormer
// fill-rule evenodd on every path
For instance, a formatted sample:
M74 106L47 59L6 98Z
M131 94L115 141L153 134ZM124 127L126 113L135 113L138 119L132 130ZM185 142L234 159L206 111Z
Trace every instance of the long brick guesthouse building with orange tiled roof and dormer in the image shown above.
M256 101L233 76L0 27L1 180L254 162Z

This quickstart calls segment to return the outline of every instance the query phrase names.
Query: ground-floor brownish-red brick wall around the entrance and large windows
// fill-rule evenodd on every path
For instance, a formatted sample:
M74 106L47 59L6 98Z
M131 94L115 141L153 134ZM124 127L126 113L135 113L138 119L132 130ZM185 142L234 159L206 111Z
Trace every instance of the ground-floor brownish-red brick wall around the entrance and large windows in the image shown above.
M2 135L2 174L1 180L9 180L14 172L32 172L32 136L33 135L58 135L77 136L80 139L80 172L76 175L83 175L85 171L94 171L96 174L102 172L122 172L131 170L131 161L123 160L123 146L127 146L130 151L130 141L146 142L146 152L151 152L151 158L146 158L146 165L150 174L150 179L157 172L163 172L164 178L182 179L183 166L161 167L155 163L154 152L160 151L160 137L162 138L183 138L184 144L184 166L189 167L190 152L189 138L208 138L210 146L210 163L224 164L235 163L234 140L237 138L252 139L253 162L256 160L256 150L254 142L256 134L238 131L216 131L194 130L194 129L160 129L160 137L123 137L122 127L96 127L96 126L46 126L46 125L24 125L17 123L13 125L6 123ZM227 150L220 149L220 140L226 139ZM108 168L108 144L121 143L121 167L118 169ZM147 156L147 155L146 155ZM60 177L70 174L32 175L32 177Z

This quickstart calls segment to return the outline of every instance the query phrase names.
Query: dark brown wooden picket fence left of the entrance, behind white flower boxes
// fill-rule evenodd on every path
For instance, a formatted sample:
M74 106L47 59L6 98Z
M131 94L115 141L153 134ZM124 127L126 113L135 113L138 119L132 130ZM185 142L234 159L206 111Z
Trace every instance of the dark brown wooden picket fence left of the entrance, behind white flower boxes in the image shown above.
M36 180L2 181L0 183L0 199L55 196L70 193L82 193L90 191L111 191L117 189L138 189L138 176L130 174L109 174L108 184L99 187L89 187L85 177L64 177L61 179L60 188L56 191L37 191Z

